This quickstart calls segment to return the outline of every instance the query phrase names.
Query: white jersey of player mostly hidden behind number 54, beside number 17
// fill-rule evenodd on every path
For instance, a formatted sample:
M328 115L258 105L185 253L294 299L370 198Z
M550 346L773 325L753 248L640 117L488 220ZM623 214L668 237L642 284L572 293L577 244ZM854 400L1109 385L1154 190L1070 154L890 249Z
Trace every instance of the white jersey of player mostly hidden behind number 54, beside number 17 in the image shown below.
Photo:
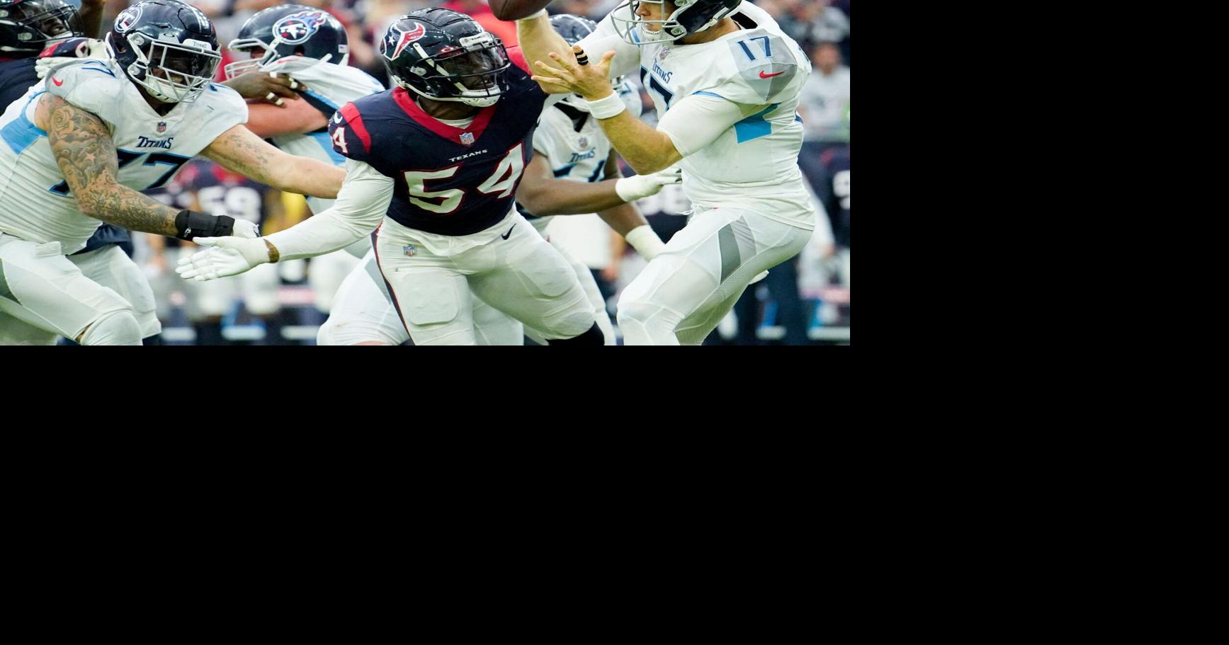
M640 118L640 92L630 81L623 81L618 87L619 98L628 111ZM606 178L606 162L611 154L611 143L602 133L597 119L585 115L585 122L576 130L576 123L558 103L542 111L542 120L533 133L533 152L546 157L557 179L574 182L600 182ZM551 216L530 220L540 233L546 235Z

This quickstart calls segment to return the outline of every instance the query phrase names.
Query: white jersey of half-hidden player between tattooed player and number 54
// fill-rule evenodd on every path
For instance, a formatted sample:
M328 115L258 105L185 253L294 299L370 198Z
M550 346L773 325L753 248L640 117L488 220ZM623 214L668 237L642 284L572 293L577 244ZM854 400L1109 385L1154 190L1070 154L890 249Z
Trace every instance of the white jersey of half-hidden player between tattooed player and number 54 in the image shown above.
M345 103L367 95L385 91L385 86L359 68L322 63L316 58L281 57L261 68L262 71L289 74L291 79L302 81L308 90L299 101L311 100L313 104L323 104L337 112ZM332 114L327 114L332 117ZM334 166L345 166L345 157L333 150L333 140L328 138L328 128L318 133L288 134L273 138L274 145L291 155L311 157ZM333 205L333 199L308 197L307 205L312 213L323 213Z

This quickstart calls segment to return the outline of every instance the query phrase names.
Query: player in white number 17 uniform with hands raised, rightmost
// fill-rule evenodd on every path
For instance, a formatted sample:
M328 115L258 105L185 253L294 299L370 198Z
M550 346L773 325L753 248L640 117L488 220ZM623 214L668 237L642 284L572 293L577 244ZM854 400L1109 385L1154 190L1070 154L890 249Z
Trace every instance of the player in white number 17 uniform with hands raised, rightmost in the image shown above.
M584 96L637 172L683 168L692 221L623 291L618 322L629 345L703 343L747 284L798 254L815 229L798 167L806 54L740 0L629 0L576 47L580 60L544 11L516 25L533 80ZM656 129L610 88L608 76L637 69Z

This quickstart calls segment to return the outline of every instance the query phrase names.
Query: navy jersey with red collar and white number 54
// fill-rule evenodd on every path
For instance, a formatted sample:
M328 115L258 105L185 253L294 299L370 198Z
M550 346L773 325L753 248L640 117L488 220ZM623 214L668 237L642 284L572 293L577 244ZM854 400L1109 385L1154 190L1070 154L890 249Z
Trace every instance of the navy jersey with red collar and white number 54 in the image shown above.
M401 87L365 96L329 120L333 149L396 181L387 215L397 224L452 236L489 229L512 208L547 100L517 65L508 81L467 128L431 118Z

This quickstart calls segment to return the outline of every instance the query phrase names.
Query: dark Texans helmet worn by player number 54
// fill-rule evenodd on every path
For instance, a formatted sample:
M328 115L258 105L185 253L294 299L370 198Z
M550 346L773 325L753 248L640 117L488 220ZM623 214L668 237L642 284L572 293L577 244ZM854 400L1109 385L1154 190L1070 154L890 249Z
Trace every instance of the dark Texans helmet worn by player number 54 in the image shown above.
M504 43L465 14L420 9L402 16L380 41L388 76L433 101L494 106L509 90Z

